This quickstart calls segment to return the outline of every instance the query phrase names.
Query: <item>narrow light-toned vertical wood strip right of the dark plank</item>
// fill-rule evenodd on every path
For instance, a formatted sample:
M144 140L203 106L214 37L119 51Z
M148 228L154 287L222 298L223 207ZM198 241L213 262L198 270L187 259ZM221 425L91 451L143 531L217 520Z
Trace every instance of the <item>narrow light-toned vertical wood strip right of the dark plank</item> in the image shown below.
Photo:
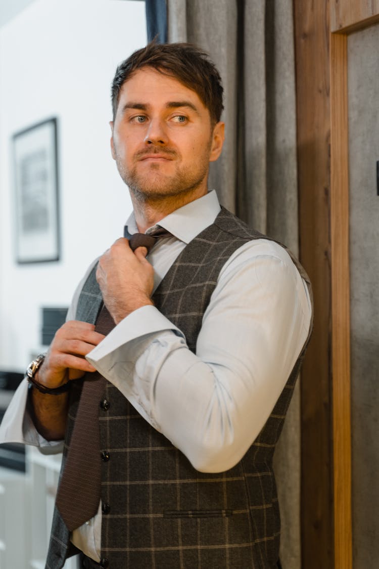
M352 567L347 36L331 36L331 267L335 567Z

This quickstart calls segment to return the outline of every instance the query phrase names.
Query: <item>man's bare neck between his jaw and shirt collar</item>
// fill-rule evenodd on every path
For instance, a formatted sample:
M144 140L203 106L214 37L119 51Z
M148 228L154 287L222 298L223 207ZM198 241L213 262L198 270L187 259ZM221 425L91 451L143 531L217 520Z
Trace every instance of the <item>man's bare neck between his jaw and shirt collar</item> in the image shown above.
M131 200L134 209L134 217L140 233L159 223L161 219L168 216L177 209L189 204L191 201L197 200L205 195L206 192L194 192L179 196L159 196L158 198L149 198L141 201L131 194Z

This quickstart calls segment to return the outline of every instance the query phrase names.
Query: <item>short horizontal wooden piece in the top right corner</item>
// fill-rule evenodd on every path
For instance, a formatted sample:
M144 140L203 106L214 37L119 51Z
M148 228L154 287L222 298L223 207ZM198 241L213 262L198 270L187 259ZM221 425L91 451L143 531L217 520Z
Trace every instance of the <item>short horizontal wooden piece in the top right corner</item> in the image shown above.
M379 19L379 0L331 0L331 31L353 31L358 22L365 25ZM360 24L362 27L362 24Z

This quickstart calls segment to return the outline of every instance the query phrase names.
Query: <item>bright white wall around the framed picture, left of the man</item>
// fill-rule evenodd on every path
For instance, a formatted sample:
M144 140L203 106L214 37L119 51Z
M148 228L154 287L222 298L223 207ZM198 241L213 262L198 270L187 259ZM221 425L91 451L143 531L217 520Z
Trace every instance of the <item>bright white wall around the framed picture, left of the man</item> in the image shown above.
M91 260L122 235L131 204L110 155L110 84L145 43L136 0L36 0L0 30L0 368L25 368L40 347L40 307L68 306ZM52 116L61 260L18 265L11 135Z

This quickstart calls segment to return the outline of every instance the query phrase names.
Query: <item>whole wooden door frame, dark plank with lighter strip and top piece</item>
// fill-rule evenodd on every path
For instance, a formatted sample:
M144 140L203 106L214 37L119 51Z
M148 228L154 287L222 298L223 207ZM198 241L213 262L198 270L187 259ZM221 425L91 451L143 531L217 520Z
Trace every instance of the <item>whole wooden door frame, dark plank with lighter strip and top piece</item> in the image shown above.
M304 569L351 569L347 40L379 0L293 0L299 250L315 324L301 377Z

